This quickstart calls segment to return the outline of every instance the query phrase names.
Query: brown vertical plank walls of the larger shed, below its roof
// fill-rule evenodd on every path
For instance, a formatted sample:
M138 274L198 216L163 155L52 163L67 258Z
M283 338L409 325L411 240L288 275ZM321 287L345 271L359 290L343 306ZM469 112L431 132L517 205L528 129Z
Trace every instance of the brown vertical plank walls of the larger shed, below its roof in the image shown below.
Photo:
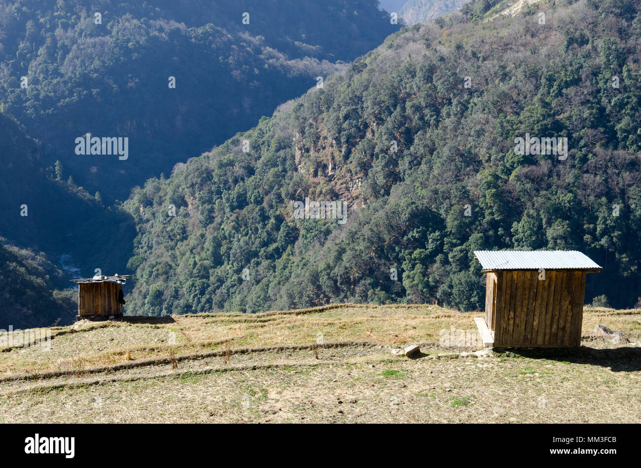
M583 270L488 272L485 320L495 347L581 345Z

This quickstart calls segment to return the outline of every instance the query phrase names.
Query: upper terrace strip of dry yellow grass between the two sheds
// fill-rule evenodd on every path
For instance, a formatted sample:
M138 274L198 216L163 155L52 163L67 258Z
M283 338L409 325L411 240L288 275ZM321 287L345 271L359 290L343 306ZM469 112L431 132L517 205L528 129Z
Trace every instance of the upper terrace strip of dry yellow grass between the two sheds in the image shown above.
M438 341L438 331L450 325L475 329L469 314L437 306L330 306L262 314L222 313L158 318L126 318L123 322L88 322L52 331L51 351L18 348L3 354L0 375L24 370L67 368L77 350L87 366L122 363L126 353L136 359L231 348L313 343L326 340L371 339L382 343ZM427 319L427 320L426 320ZM170 334L175 344L170 344Z

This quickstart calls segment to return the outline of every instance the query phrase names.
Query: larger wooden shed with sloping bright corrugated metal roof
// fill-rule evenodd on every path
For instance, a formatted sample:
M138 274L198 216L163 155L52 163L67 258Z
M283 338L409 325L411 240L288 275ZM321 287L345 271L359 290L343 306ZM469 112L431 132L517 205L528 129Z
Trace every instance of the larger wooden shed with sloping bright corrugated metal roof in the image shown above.
M585 276L601 267L578 251L474 251L487 274L483 343L579 347Z

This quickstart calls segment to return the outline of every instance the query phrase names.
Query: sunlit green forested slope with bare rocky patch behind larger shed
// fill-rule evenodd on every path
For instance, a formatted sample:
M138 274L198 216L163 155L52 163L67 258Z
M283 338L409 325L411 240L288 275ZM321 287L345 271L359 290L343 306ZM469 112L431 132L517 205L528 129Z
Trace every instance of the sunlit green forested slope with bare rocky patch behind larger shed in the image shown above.
M584 251L604 267L587 301L634 305L640 4L542 3L545 24L526 11L472 20L470 8L390 36L127 201L139 232L131 307L469 310L484 297L472 251L494 248ZM567 138L568 151L521 154L526 134ZM347 222L295 219L305 198L347 200Z

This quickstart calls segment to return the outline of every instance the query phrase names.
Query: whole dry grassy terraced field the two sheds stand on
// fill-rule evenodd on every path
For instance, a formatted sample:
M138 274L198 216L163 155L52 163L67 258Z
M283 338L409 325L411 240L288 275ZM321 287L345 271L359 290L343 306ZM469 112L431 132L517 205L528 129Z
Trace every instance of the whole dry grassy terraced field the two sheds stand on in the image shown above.
M641 422L640 310L586 308L576 350L443 341L474 315L345 304L81 321L52 329L50 350L4 350L0 422ZM392 354L411 343L415 359Z

